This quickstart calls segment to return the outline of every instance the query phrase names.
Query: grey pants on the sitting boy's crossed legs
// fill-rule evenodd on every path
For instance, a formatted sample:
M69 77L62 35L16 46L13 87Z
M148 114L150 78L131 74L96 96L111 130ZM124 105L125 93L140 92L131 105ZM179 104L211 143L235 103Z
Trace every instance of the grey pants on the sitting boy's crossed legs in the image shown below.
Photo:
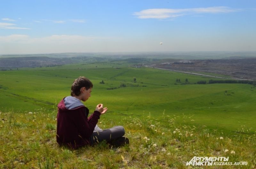
M97 144L103 140L110 141L122 136L124 136L123 126L115 126L110 129L102 130L96 125L90 137L90 144Z

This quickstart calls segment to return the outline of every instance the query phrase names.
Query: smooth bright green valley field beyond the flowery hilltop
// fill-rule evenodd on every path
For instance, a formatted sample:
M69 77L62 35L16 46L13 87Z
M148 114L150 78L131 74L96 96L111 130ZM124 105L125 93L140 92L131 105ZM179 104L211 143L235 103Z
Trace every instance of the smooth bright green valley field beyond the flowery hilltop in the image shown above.
M166 118L183 116L180 124L207 126L209 130L227 134L241 128L256 130L253 85L199 85L195 83L213 78L134 68L122 61L0 71L0 111L27 113L42 108L57 109L56 104L70 95L71 84L78 76L89 78L94 85L85 105L92 111L98 103L103 103L108 107L104 117L107 120L150 113L156 118L163 114ZM105 84L100 84L102 80ZM120 87L121 84L126 87Z

